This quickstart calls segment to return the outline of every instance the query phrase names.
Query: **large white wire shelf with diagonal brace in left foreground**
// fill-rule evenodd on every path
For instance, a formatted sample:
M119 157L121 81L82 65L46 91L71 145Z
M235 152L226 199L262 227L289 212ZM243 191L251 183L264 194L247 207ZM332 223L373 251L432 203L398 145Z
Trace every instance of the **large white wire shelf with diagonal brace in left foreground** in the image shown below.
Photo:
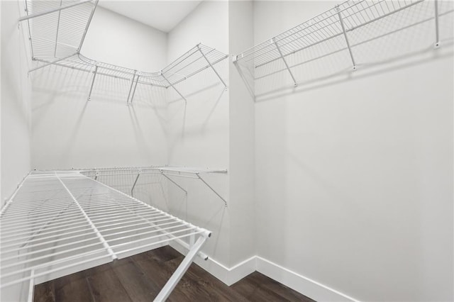
M207 259L200 249L211 235L78 171L28 174L0 223L0 288L28 284L29 301L34 284L172 241L189 252L155 298L165 301L194 257Z

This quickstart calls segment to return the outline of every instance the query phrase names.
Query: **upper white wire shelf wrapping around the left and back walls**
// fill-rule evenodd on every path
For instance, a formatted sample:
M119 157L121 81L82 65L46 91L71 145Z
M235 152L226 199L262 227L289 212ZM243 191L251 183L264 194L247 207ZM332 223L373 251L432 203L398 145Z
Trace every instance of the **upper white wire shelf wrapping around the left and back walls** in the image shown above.
M27 23L32 60L40 62L40 65L30 72L56 65L92 74L89 100L96 77L123 79L129 84L127 104L133 104L135 90L139 84L175 89L177 94L187 101L175 85L204 69L212 69L227 88L226 82L214 66L228 55L201 43L157 72L139 71L84 57L80 50L97 3L98 0L26 1L27 15L19 21Z

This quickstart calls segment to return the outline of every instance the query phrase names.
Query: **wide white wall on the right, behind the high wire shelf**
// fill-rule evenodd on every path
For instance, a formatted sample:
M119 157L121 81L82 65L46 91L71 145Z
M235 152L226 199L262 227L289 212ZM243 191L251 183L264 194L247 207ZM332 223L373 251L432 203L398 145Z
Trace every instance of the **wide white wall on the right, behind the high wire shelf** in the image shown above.
M255 43L333 6L255 1ZM362 301L453 300L453 50L426 46L258 100L260 257Z

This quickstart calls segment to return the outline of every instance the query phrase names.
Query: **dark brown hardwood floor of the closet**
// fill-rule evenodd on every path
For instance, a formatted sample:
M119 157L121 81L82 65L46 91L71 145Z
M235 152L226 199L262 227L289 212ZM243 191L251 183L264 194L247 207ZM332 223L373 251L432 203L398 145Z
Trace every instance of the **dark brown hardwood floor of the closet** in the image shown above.
M161 247L35 286L34 302L153 301L183 256ZM196 264L167 301L313 301L254 272L226 286Z

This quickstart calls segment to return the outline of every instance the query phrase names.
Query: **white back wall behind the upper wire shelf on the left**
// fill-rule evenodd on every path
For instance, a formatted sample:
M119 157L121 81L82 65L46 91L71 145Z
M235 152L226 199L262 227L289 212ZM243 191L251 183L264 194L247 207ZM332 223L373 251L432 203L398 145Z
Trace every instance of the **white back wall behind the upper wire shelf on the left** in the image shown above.
M101 62L154 72L165 66L167 35L98 7L82 54ZM33 73L32 167L118 167L165 164L167 91L50 66Z

